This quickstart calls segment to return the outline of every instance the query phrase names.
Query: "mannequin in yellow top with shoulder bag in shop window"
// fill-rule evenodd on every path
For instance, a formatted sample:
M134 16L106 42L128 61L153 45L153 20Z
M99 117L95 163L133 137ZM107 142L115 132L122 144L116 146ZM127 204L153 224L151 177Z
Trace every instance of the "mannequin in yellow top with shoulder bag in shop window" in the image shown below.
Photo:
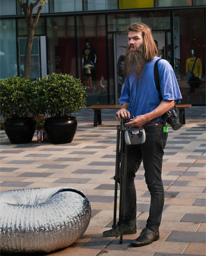
M192 71L192 67L194 65L196 57L197 56L195 55L195 50L192 49L191 50L191 57L186 60L186 73L189 70ZM201 93L200 84L201 84L201 76L202 76L202 62L201 62L200 58L197 58L197 60L195 62L195 67L194 67L192 72L194 73L194 77L192 77L188 81L188 83L189 83L188 93L187 93L188 103L190 101L191 93L192 93L193 88L197 88L198 96L199 96L200 102L201 102L202 93Z

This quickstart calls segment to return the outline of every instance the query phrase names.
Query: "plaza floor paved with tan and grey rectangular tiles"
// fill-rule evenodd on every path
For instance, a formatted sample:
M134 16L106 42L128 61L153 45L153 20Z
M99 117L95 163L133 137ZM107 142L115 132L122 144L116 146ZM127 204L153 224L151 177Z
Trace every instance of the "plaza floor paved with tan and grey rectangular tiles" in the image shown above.
M1 131L1 191L38 187L74 187L88 197L92 218L84 235L54 256L180 256L205 255L205 107L186 109L186 124L168 129L162 180L165 190L160 239L132 247L146 225L150 195L143 165L135 177L137 234L104 238L113 220L116 110L102 110L102 125L93 126L94 111L75 114L78 128L69 144L14 145ZM118 213L117 213L118 216ZM3 255L3 254L1 254Z

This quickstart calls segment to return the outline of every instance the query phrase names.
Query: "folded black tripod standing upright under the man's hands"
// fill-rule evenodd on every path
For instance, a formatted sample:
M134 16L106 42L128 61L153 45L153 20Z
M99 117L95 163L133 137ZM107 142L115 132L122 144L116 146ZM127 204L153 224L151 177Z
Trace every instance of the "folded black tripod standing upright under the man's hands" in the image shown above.
M125 142L125 123L126 120L121 118L121 125L117 126L117 148L116 148L116 167L115 167L115 199L114 199L114 221L112 229L116 230L117 225L120 231L120 241L122 244L123 227L124 227L124 212L125 212L125 189L127 179L127 144ZM121 133L121 137L120 137ZM117 189L118 182L120 184L119 195L119 221L116 224L117 216Z

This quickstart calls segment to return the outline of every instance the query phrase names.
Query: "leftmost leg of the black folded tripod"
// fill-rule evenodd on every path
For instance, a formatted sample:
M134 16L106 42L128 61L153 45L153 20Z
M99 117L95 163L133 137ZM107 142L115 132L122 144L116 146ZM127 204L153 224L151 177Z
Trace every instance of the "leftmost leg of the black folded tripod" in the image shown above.
M120 153L119 153L119 141L120 141L120 126L117 126L117 145L116 145L116 166L115 166L115 198L114 198L114 217L113 217L113 225L112 229L116 230L116 218L117 218L117 190L118 190L118 177L119 177L119 160L120 160Z

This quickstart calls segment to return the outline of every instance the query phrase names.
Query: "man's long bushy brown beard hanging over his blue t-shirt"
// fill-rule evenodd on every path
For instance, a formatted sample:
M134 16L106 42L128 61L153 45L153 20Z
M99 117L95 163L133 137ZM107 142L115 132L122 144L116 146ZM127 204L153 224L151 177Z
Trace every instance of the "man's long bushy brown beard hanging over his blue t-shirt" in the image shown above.
M132 74L135 77L138 77L138 79L140 80L144 66L146 64L146 59L140 48L137 48L135 46L135 49L131 50L130 47L131 46L128 45L126 48L124 75L126 77L127 74Z

